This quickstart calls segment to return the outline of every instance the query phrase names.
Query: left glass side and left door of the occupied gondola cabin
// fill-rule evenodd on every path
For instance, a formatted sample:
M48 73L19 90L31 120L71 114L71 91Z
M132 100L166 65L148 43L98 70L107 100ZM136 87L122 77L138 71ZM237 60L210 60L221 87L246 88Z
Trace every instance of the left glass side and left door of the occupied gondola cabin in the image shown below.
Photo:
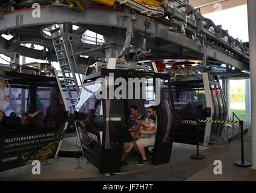
M109 86L104 89L110 93ZM97 81L85 81L76 105L76 127L84 156L100 174L120 171L125 125L123 100L100 99L104 89Z

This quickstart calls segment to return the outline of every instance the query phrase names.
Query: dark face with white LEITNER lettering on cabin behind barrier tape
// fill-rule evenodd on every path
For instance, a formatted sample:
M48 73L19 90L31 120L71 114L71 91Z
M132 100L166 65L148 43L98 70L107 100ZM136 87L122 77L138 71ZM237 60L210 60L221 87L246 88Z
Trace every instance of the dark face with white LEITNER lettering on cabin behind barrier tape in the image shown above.
M197 118L206 119L203 109L206 107L205 89L203 82L185 82L172 86L174 96L174 109L176 113L176 136L175 142L196 144L197 141ZM205 135L205 124L200 124L200 143Z

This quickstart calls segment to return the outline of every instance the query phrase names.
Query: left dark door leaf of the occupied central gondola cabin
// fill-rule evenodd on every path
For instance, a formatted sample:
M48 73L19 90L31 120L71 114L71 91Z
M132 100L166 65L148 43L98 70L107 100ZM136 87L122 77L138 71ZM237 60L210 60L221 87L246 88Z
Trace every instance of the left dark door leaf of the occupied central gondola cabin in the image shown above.
M103 100L103 140L101 147L100 174L121 169L123 150L122 133L125 128L123 100Z

